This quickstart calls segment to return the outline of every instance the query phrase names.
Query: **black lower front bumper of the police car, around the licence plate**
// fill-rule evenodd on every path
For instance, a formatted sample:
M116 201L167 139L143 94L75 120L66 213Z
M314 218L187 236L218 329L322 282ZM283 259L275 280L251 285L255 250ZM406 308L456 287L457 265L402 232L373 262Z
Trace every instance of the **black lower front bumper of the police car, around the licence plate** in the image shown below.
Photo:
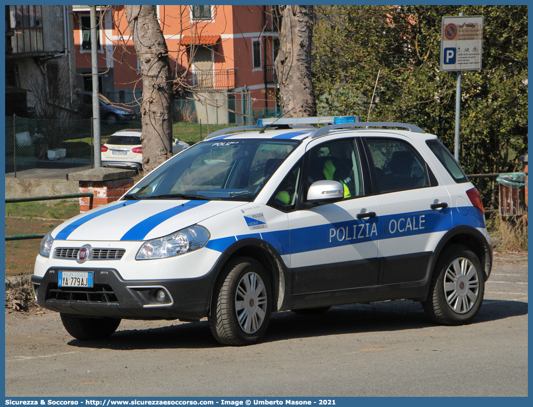
M122 319L199 320L207 315L216 273L199 278L175 280L124 280L114 268L81 268L94 272L93 288L58 287L58 272L51 267L43 278L32 276L37 304L47 310L83 316L111 316ZM166 299L157 302L155 292L164 290Z

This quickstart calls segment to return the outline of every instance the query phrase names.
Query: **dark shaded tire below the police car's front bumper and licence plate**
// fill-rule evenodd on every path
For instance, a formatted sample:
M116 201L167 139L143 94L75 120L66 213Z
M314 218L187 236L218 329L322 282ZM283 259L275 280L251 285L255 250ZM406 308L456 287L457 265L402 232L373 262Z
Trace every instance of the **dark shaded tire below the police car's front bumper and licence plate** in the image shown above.
M120 324L119 318L83 318L81 316L60 314L63 327L70 335L79 340L106 339L113 335Z

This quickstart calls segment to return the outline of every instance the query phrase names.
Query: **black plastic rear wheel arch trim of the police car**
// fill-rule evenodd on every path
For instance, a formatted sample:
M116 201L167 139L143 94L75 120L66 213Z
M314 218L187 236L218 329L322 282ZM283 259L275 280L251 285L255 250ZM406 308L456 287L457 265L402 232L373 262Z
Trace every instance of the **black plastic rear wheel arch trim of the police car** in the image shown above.
M472 250L479 258L485 280L489 278L492 269L492 247L484 235L478 229L475 229L475 227L465 225L457 226L446 232L440 239L437 247L433 250L430 262L427 265L423 289L419 300L423 301L427 298L435 264L442 250L449 245L463 245Z

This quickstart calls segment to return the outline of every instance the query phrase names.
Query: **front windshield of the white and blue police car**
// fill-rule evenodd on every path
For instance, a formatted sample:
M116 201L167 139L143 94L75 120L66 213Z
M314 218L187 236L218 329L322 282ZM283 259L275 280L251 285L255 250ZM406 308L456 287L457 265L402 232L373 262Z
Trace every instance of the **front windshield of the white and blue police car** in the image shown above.
M184 150L123 199L254 200L300 144L297 140L221 140Z

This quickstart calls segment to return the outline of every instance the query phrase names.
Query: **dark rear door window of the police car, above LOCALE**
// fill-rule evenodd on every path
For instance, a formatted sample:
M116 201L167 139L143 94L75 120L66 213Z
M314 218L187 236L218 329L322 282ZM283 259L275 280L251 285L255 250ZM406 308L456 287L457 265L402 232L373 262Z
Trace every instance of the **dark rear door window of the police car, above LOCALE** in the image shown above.
M374 161L379 192L430 186L424 160L410 144L396 139L366 139Z

